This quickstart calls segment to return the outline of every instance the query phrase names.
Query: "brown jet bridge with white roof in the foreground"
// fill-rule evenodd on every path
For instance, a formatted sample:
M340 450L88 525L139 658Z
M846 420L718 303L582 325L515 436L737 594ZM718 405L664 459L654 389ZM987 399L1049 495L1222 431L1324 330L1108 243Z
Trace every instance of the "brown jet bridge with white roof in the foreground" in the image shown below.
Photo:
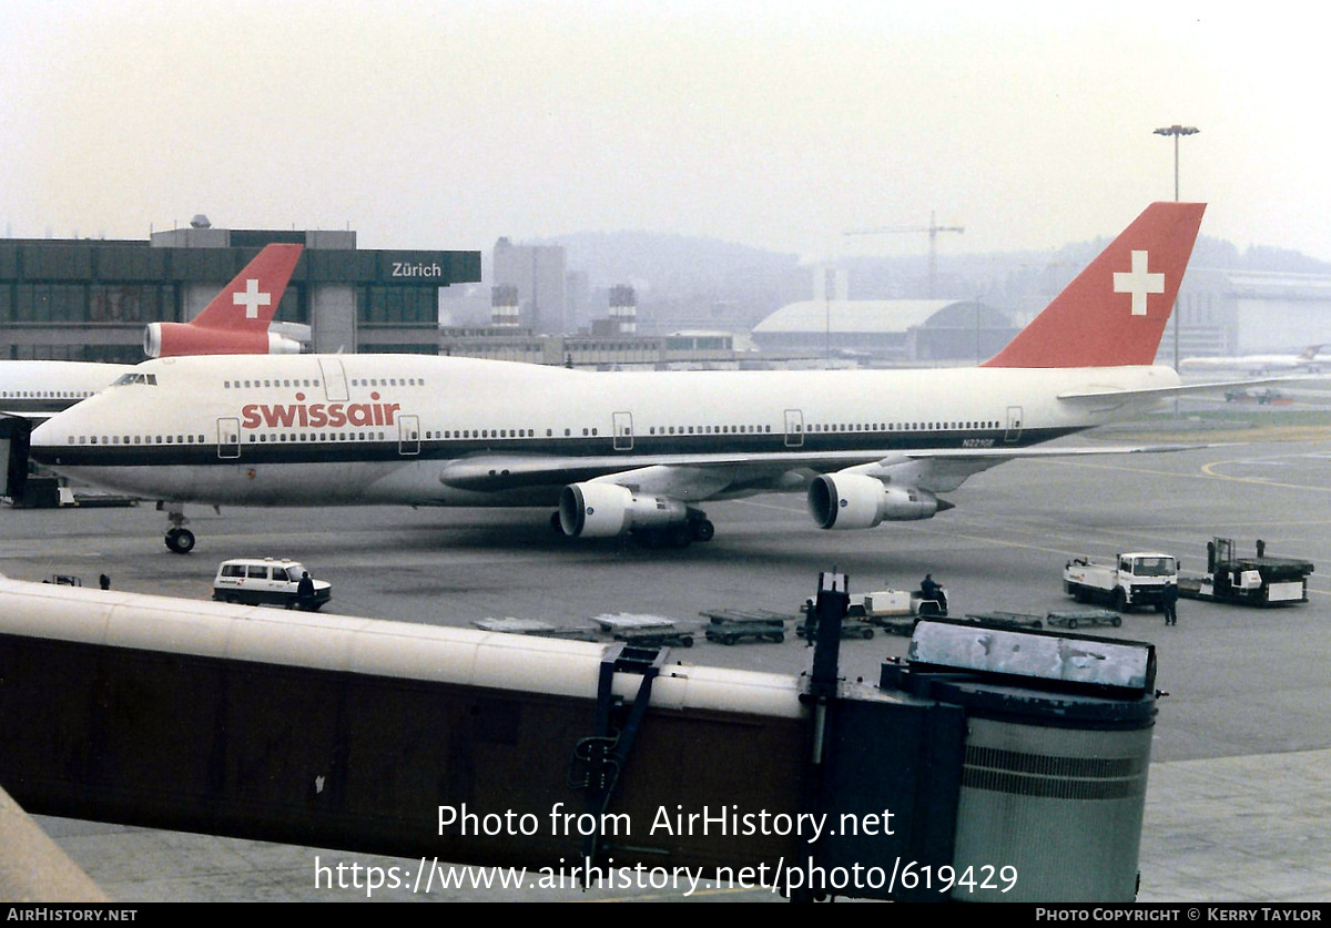
M921 622L839 677L666 649L0 578L0 786L29 812L795 899L1130 901L1150 645Z

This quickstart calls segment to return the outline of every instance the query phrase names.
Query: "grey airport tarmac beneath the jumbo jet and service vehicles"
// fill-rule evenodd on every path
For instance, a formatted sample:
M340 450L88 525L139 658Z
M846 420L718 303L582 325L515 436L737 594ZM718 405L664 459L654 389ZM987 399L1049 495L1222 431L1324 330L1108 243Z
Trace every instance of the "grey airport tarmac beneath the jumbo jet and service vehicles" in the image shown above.
M1142 839L1142 901L1331 899L1331 439L1255 441L1165 455L1012 463L946 495L957 508L865 532L817 529L797 495L705 505L716 538L684 550L628 540L555 537L542 511L186 511L198 545L166 550L152 507L0 511L0 572L43 580L100 573L116 589L208 598L229 557L291 557L333 581L327 612L470 626L486 617L584 625L632 612L701 624L704 609L792 617L823 570L852 592L942 581L953 613L1067 608L1061 570L1074 556L1158 549L1202 569L1206 542L1312 561L1310 602L1256 610L1185 600L1179 624L1154 612L1094 633L1157 646L1159 701ZM1324 565L1324 566L1323 566ZM906 639L847 641L841 670L876 679ZM672 659L799 674L812 651L785 643L697 643ZM122 901L365 899L317 889L315 856L382 858L121 826L39 819ZM418 866L418 862L398 862ZM600 893L620 897L624 893ZM374 899L403 899L379 892ZM676 899L638 892L632 897ZM761 899L749 891L709 899ZM458 889L430 899L508 899ZM532 896L598 897L578 891Z

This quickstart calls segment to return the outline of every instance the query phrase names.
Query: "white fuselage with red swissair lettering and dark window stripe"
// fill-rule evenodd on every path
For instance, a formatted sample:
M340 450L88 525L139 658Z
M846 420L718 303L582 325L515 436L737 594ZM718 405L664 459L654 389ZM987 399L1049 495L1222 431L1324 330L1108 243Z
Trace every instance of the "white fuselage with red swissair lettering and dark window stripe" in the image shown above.
M51 419L32 456L170 501L544 505L636 468L697 499L792 489L920 449L1021 448L1135 412L1062 394L1171 387L1166 367L592 374L417 355L157 359ZM705 485L704 485L705 484Z

